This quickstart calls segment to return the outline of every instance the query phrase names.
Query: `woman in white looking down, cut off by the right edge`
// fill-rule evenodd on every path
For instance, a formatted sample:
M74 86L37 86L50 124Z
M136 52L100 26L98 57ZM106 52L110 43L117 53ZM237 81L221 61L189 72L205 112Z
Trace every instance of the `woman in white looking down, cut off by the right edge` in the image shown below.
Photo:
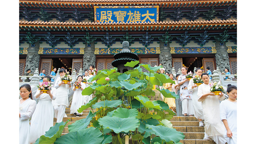
M226 128L224 137L228 144L237 143L237 87L228 84L229 98L220 103L220 119Z

